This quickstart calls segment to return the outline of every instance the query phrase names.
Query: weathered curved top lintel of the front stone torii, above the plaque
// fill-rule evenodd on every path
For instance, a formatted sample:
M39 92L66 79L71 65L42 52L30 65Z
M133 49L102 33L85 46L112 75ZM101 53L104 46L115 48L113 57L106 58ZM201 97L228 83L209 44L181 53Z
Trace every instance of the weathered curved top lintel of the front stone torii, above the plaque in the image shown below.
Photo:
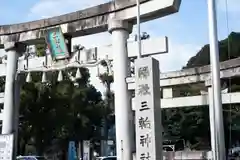
M143 9L141 20L148 21L178 11L181 0L140 0ZM44 30L60 26L64 34L72 37L107 31L112 18L136 22L135 0L108 2L81 11L37 20L33 22L0 26L0 48L5 42L38 43Z

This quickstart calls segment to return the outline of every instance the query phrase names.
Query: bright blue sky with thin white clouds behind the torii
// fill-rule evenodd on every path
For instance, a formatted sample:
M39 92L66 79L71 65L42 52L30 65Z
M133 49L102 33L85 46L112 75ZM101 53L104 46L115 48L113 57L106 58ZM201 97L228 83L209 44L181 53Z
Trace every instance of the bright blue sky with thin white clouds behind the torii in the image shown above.
M105 1L1 0L0 24L20 23L56 16ZM226 12L226 8L228 12ZM152 38L162 36L169 38L169 53L155 56L160 61L161 72L180 70L186 65L189 58L209 43L207 14L207 0L182 0L178 13L141 24L141 30L149 33ZM240 31L240 21L237 17L239 14L240 0L217 0L219 40L226 38L231 31ZM134 27L133 34L135 33ZM101 33L74 39L73 44L82 44L87 48L95 47L110 44L110 38L109 33ZM98 83L95 79L92 82Z

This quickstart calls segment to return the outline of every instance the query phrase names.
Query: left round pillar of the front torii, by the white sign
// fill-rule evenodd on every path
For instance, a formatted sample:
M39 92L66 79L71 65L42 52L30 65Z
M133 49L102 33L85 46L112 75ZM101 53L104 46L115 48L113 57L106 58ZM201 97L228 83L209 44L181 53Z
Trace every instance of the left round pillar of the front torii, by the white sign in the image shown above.
M7 70L3 107L2 134L14 134L13 157L15 159L17 133L18 133L18 111L20 98L20 84L17 76L18 57L25 51L23 43L9 42L4 44L7 52Z

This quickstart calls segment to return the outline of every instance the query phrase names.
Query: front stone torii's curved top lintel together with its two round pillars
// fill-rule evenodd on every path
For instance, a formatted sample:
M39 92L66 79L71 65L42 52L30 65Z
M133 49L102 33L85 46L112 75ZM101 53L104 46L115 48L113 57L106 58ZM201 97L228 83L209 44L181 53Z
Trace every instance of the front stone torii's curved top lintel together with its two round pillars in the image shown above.
M141 22L150 21L178 11L181 0L140 0ZM116 0L74 13L33 22L0 26L0 47L7 52L7 71L2 134L14 133L14 110L18 57L26 45L44 42L45 31L60 26L66 39L109 31L115 77L115 115L117 156L132 159L132 115L126 78L128 73L127 39L136 23L135 0ZM16 94L18 95L18 94ZM123 154L122 154L123 153Z

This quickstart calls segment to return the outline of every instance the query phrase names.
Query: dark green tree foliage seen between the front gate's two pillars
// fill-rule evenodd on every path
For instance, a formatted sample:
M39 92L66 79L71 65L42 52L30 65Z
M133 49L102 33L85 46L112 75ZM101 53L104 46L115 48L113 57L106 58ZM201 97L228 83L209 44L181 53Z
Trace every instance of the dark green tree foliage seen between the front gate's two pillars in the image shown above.
M73 83L66 72L64 80L57 82L53 72L46 84L41 83L41 74L35 73L33 82L22 86L19 154L24 154L26 144L34 145L41 154L53 140L66 149L69 140L99 139L106 109L101 93L89 84L88 70L81 68L81 73L83 78Z

